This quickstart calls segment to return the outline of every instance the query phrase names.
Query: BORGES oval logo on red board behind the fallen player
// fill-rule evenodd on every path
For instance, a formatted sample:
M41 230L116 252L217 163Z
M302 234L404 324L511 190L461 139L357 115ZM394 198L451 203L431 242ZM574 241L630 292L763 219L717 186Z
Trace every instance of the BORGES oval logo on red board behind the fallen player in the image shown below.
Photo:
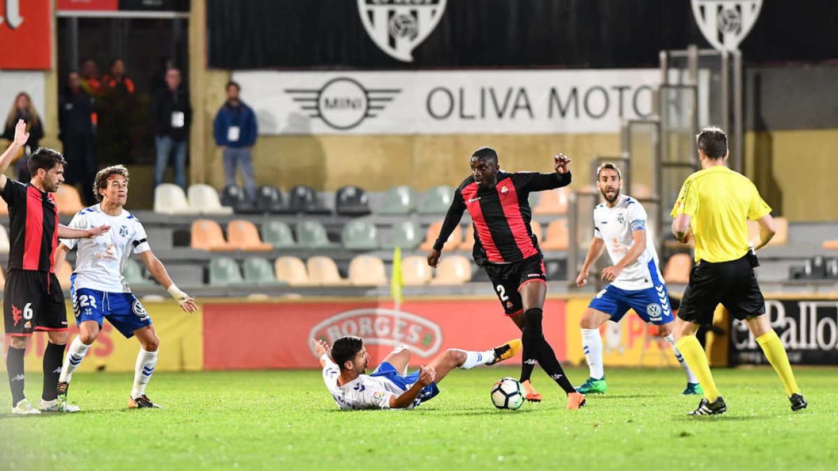
M442 345L442 328L427 318L385 308L361 308L338 313L315 325L308 339L329 344L345 335L364 338L367 345L407 345L416 355L428 357ZM312 353L317 355L314 346Z

